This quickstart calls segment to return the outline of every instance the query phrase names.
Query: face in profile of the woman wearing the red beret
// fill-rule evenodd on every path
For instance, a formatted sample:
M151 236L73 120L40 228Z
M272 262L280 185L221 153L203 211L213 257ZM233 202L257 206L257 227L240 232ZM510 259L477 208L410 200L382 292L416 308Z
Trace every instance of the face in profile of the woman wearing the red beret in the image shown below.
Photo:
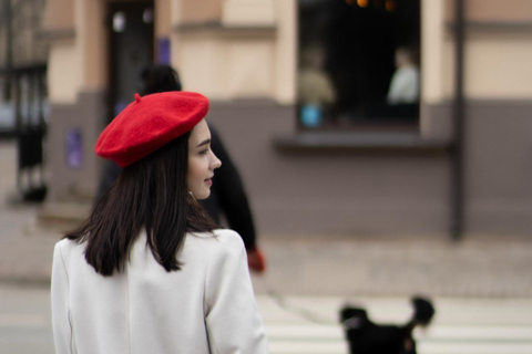
M219 159L211 150L211 132L205 119L191 132L188 138L188 176L186 184L196 199L205 199L211 195L214 169L222 166Z

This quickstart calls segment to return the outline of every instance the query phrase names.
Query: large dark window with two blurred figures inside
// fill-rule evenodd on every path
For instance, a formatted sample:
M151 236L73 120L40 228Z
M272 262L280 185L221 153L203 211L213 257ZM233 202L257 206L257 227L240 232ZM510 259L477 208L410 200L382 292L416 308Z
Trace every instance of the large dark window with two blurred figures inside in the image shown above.
M298 0L301 129L417 127L420 0Z

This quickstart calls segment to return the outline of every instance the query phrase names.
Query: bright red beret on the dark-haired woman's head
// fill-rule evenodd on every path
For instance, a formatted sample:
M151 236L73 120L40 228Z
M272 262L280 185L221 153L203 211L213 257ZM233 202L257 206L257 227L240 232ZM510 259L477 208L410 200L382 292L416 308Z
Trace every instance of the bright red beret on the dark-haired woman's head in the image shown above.
M141 97L130 103L103 131L96 154L121 167L155 152L205 117L208 100L193 92L172 91Z

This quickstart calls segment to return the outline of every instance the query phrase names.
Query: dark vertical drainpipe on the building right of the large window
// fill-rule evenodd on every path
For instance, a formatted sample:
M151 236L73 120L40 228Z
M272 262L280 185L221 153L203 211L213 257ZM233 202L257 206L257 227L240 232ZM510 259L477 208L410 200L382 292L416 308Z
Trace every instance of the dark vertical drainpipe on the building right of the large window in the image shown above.
M464 100L463 100L463 52L464 52L464 0L454 1L454 142L452 145L452 227L454 240L460 240L463 233L463 140L464 129Z

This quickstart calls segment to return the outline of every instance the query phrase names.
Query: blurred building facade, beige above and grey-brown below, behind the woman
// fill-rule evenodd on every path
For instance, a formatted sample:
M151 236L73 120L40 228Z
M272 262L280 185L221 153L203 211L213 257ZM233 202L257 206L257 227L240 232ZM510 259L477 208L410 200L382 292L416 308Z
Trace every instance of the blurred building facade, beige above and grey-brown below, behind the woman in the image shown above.
M320 11L320 0L48 0L49 201L94 194L95 140L132 100L137 69L155 61L211 100L207 119L239 167L260 233L446 236L458 219L466 235L528 235L532 3L337 2ZM417 27L400 32L411 19ZM389 113L378 84L390 81L401 41L419 53L408 119ZM298 91L301 63L316 58L335 91L334 119Z

